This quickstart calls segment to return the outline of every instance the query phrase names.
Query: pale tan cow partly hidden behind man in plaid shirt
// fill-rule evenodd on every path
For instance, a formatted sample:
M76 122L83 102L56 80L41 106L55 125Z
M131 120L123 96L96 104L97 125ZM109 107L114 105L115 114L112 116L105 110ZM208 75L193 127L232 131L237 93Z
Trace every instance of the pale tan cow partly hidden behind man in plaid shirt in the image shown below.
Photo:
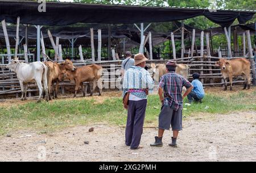
M167 73L166 71L166 64L154 64L151 63L151 71L152 71L152 78L155 79L155 81L159 81L159 79ZM156 70L158 69L158 70ZM175 72L177 74L182 75L184 78L188 79L188 69L189 66L185 64L177 64Z

